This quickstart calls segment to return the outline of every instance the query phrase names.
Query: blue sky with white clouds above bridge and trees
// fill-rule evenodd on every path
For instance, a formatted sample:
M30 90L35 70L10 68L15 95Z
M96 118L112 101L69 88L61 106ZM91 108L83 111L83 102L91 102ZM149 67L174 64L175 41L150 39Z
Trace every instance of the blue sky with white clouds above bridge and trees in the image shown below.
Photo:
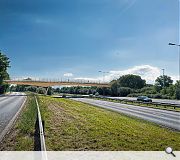
M178 77L178 0L0 0L11 78Z

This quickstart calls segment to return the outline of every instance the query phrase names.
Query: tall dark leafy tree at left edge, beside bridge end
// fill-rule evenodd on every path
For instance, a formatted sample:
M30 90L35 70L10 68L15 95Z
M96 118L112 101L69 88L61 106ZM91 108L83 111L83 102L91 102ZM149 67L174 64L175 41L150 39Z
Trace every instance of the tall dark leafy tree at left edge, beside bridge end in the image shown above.
M10 67L9 63L9 58L0 52L0 85L2 85L3 80L9 79L9 74L7 73L7 69Z

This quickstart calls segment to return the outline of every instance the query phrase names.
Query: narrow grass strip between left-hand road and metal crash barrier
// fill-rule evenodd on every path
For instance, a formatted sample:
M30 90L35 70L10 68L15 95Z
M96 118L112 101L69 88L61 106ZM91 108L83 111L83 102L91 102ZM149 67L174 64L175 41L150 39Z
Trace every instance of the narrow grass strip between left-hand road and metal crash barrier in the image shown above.
M24 109L0 144L0 150L33 151L37 107L34 96L28 96Z

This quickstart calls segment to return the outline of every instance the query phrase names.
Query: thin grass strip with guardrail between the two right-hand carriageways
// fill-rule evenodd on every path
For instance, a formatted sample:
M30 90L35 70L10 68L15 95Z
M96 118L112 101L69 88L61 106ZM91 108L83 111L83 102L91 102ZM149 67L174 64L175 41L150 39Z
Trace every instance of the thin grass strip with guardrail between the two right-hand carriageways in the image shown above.
M180 108L175 108L171 106L162 106L162 105L154 105L154 104L143 104L143 103L136 103L136 102L127 102L123 100L116 100L116 99L106 99L106 98L93 98L97 100L103 100L103 101L108 101L108 102L115 102L115 103L122 103L122 104L130 104L130 105L136 105L136 106L141 106L141 107L149 107L149 108L155 108L155 109L162 109L162 110L168 110L168 111L178 111L180 112Z

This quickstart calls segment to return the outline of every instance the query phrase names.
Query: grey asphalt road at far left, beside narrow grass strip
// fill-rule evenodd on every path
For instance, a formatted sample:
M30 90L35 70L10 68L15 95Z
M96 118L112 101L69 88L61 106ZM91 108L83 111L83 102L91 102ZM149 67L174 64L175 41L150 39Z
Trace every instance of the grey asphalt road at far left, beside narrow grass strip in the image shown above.
M0 140L7 132L25 100L26 96L24 93L14 92L0 96Z

